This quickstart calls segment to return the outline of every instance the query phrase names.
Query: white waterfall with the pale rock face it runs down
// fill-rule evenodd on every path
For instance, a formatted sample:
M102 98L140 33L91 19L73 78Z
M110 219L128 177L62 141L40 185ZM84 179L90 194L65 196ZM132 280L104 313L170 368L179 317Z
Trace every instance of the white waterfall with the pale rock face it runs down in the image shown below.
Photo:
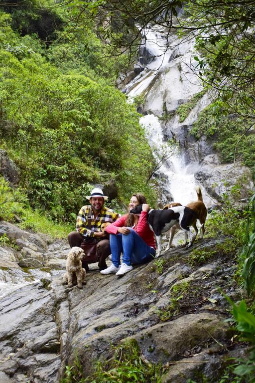
M184 152L179 148L168 145L163 125L164 115L174 113L177 107L190 100L203 88L195 73L195 60L193 52L193 39L179 38L175 35L166 35L162 28L153 26L144 30L143 50L149 62L132 81L124 88L129 99L143 95L145 104L142 108L143 117L140 124L145 128L148 143L152 149L156 163L160 163L164 156L165 161L159 167L157 176L163 182L161 195L162 203L174 200L186 204L197 198L195 192L195 172L199 169L198 163L185 162ZM140 58L139 66L143 58ZM193 67L193 69L192 69ZM194 122L200 110L209 104L205 95L202 102L196 105L194 112L187 117ZM192 113L193 112L193 113ZM169 118L170 131L183 129L178 116ZM203 189L203 187L202 187ZM203 190L205 195L205 191ZM205 198L206 199L206 198ZM210 205L209 198L207 204Z

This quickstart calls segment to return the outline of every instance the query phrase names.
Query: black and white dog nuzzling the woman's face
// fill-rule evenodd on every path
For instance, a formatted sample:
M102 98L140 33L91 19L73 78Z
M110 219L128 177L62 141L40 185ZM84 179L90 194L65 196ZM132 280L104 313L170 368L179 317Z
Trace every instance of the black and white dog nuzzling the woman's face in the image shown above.
M140 214L142 205L137 205L129 212L133 214ZM192 246L196 235L190 231L190 226L196 224L197 214L194 210L186 206L175 206L167 210L150 209L148 211L148 225L154 231L157 240L156 258L161 253L161 233L169 230L173 225L179 223L180 228L189 236L190 240L187 247Z

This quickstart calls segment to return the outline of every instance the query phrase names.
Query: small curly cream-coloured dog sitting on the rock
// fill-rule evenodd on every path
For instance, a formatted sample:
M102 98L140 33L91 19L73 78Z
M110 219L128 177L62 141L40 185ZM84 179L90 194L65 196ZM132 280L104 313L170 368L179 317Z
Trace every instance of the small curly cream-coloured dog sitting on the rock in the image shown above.
M67 255L66 273L63 275L63 283L72 287L77 283L79 289L82 289L82 283L85 282L86 271L82 268L82 258L84 252L81 247L74 246Z

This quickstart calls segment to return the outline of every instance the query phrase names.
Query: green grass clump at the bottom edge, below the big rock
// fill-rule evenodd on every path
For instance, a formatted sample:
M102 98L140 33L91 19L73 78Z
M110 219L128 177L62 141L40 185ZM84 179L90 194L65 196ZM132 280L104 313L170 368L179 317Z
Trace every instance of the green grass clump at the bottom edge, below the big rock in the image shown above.
M66 366L61 383L160 383L163 374L161 365L152 364L141 355L134 339L113 347L110 361L98 361L94 373L85 378L78 359L74 366Z

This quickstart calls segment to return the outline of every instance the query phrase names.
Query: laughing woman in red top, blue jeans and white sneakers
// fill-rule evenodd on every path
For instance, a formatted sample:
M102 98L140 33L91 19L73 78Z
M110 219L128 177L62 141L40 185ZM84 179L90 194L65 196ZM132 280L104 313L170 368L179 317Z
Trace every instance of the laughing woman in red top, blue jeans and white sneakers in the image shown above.
M146 263L155 257L155 238L147 223L149 205L146 203L145 196L140 193L133 194L128 211L139 204L142 204L141 214L128 212L107 226L106 231L110 234L112 264L107 269L101 270L102 274L123 275L132 270L131 263ZM121 253L123 253L122 265Z

